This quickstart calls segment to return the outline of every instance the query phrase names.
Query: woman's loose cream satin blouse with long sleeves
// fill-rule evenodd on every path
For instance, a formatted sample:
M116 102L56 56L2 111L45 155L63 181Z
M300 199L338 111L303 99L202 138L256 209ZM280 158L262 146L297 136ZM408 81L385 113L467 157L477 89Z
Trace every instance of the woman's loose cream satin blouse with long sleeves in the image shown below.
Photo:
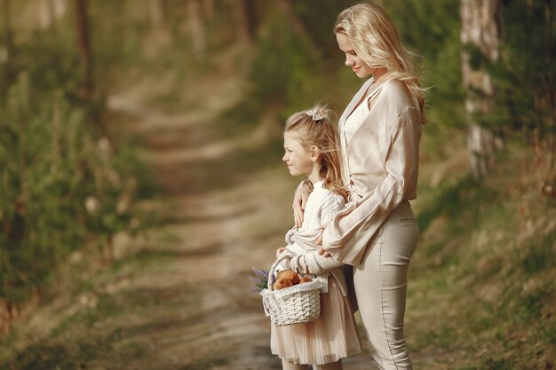
M338 261L359 264L361 256L390 212L401 201L417 197L417 174L422 116L417 98L405 83L393 78L371 88L361 104L367 114L349 142L346 119L369 89L361 86L338 122L344 171L351 189L346 208L338 212L322 233L322 245ZM373 90L374 89L374 90Z

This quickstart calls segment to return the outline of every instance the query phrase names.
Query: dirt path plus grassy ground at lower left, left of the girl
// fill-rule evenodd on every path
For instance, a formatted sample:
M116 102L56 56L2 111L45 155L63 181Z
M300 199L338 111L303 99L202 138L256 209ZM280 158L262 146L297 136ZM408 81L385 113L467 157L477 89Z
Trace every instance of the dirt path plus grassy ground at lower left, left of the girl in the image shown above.
M299 178L281 161L282 123L268 114L239 132L219 122L241 98L234 78L197 84L171 109L153 86L164 90L163 78L111 95L107 123L140 143L139 182L155 190L138 209L155 224L117 235L110 264L72 256L67 289L31 304L3 338L0 369L282 368L249 279L270 268L292 223ZM365 351L345 368L377 367Z

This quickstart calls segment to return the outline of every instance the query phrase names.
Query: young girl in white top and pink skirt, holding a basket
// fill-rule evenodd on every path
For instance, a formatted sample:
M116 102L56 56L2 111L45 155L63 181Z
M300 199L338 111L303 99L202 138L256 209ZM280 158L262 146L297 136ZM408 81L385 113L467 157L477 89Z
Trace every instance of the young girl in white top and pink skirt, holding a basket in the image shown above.
M282 161L292 176L307 177L306 185L312 188L312 193L303 224L286 234L288 246L278 249L276 255L295 254L282 263L283 268L300 273L310 268L324 282L318 319L272 326L271 350L282 358L284 370L307 369L308 364L313 364L314 370L341 370L341 358L361 351L341 263L320 256L315 246L321 226L344 207L347 196L341 180L338 140L329 114L323 106L293 114L284 131Z

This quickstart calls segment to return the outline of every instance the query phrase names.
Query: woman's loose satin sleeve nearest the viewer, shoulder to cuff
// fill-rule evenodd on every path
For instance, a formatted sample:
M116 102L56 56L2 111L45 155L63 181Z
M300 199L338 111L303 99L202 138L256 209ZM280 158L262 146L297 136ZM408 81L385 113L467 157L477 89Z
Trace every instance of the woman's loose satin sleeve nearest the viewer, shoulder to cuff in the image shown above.
M338 212L324 229L322 245L336 260L359 264L369 241L384 224L390 212L406 199L406 180L417 179L418 143L421 136L420 113L408 106L398 114L386 114L382 122L379 148L385 155L385 178L375 189L362 194ZM376 117L366 117L365 121ZM362 122L362 124L376 122Z

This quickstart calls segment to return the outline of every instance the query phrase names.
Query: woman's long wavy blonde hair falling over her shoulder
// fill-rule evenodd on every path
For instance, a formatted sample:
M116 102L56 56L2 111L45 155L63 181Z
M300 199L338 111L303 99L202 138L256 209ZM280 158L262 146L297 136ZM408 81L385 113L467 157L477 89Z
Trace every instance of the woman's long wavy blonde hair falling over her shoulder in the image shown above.
M353 50L369 67L385 67L390 75L403 81L417 98L425 122L425 89L420 87L415 71L413 59L416 55L403 46L384 9L372 3L350 6L338 14L334 34L346 35Z

